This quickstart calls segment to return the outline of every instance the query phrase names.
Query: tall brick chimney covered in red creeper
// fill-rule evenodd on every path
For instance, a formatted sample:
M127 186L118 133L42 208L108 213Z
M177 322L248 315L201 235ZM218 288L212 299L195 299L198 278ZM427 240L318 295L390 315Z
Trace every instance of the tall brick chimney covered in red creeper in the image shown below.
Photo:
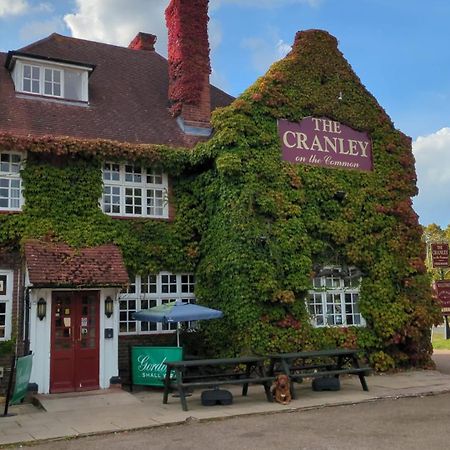
M171 0L166 9L171 111L186 134L201 136L211 133L208 3Z

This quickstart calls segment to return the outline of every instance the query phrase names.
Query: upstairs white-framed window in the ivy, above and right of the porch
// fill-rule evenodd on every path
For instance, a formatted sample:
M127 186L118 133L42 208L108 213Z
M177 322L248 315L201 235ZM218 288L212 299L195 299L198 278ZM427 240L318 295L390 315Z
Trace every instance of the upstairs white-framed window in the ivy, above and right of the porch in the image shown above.
M102 210L130 217L169 217L168 177L133 163L103 164Z

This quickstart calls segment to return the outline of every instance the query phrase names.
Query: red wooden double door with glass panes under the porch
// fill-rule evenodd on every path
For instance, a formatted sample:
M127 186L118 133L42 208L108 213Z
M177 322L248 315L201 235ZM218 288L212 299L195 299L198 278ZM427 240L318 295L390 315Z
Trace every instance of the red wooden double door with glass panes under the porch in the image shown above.
M99 292L53 292L50 392L98 389Z

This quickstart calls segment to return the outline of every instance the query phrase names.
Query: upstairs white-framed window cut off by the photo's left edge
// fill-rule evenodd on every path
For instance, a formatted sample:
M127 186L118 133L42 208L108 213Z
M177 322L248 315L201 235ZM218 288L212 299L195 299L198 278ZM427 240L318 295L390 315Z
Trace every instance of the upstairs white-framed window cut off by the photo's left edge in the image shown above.
M20 211L23 204L22 155L0 151L0 211Z

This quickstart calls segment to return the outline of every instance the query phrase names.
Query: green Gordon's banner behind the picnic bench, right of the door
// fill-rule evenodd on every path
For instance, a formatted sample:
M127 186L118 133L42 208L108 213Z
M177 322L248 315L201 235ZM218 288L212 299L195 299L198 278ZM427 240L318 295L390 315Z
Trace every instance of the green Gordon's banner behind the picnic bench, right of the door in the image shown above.
M132 383L144 386L164 386L164 361L181 361L182 347L131 347Z

